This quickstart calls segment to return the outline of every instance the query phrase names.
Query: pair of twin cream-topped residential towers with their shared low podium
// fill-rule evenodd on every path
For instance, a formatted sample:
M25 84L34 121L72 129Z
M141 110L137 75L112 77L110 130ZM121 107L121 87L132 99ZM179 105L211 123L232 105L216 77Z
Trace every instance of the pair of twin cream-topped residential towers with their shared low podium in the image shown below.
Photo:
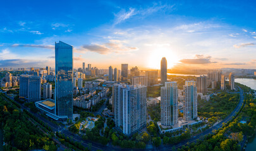
M184 99L183 104L183 120L188 121L197 119L197 82L185 81L183 86ZM165 82L164 87L161 87L161 122L160 126L173 126L169 131L180 130L182 124L178 125L178 86L177 82ZM193 122L191 124L195 124Z

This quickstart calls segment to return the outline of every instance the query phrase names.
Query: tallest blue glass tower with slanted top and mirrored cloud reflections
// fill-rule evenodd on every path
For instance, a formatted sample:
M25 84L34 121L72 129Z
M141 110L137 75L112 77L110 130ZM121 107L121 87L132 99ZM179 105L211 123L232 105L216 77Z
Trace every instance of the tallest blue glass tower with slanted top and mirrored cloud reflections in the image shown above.
M55 42L55 113L73 118L73 46Z

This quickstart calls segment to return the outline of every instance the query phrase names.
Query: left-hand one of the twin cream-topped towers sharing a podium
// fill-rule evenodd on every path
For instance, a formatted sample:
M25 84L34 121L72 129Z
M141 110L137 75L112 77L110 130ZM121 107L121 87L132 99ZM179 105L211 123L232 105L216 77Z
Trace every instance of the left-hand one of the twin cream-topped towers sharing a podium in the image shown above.
M161 87L161 125L178 123L178 87L176 82L165 82Z

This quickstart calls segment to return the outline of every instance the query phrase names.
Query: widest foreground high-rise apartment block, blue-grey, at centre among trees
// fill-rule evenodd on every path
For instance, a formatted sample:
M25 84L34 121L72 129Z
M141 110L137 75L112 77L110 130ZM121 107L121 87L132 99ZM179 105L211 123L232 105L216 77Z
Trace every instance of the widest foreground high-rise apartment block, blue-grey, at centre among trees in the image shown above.
M114 122L125 135L144 128L147 123L147 87L114 84Z

